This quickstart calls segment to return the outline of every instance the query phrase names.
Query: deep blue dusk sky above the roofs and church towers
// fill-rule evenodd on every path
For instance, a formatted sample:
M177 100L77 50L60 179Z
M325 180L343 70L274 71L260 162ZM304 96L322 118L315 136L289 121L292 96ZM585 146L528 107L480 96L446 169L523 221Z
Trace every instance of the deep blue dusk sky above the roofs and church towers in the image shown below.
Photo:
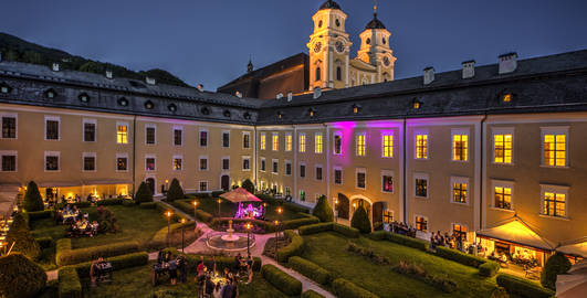
M305 52L312 14L324 0L18 0L2 1L0 31L132 70L164 68L206 89ZM358 34L373 1L337 0ZM585 0L379 0L391 32L396 78L587 49Z

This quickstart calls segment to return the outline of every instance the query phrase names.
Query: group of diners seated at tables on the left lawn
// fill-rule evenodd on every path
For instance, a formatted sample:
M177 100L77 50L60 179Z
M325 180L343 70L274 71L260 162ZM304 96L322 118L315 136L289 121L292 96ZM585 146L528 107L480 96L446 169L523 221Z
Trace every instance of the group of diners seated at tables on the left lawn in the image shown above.
M66 204L65 207L54 212L55 223L67 225L65 234L70 237L90 236L97 234L99 224L90 222L88 214L82 213L76 205Z

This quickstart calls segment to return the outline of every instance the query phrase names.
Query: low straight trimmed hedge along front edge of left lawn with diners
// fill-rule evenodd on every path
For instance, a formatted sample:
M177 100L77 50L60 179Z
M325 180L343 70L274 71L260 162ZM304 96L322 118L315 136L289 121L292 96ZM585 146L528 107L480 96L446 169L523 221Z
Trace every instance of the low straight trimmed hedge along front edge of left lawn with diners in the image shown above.
M138 252L138 243L128 241L80 249L57 251L55 260L57 266L64 266L97 259L98 257L106 258L135 252Z

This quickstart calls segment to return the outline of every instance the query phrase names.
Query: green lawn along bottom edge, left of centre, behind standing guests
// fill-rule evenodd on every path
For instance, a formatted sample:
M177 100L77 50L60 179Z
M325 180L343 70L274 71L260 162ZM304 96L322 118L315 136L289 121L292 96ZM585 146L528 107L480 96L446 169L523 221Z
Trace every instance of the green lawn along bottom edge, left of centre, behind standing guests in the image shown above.
M168 292L168 297L197 297L198 286L195 283L195 275L188 277L187 284L169 285L166 277L159 283L157 287L150 284L150 268L151 265L134 267L114 272L113 281L111 284L99 285L98 287L88 287L90 280L83 279L86 297L129 297L129 298L151 298L156 292ZM281 298L286 297L281 291L265 281L259 273L253 283L250 285L241 285L239 287L239 297L245 298Z

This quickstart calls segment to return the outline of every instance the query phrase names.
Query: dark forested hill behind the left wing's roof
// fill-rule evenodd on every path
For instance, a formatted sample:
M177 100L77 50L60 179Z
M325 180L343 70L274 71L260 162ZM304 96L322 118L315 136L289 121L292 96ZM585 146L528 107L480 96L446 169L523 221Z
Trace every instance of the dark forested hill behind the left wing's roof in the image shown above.
M158 83L189 87L188 84L177 76L164 70L150 70L134 72L123 66L112 63L92 61L81 56L72 55L67 52L45 47L14 35L0 32L0 53L2 60L25 62L50 66L53 62L59 62L64 70L81 71L87 73L105 74L106 70L113 72L114 76L145 79L146 76L157 79Z

